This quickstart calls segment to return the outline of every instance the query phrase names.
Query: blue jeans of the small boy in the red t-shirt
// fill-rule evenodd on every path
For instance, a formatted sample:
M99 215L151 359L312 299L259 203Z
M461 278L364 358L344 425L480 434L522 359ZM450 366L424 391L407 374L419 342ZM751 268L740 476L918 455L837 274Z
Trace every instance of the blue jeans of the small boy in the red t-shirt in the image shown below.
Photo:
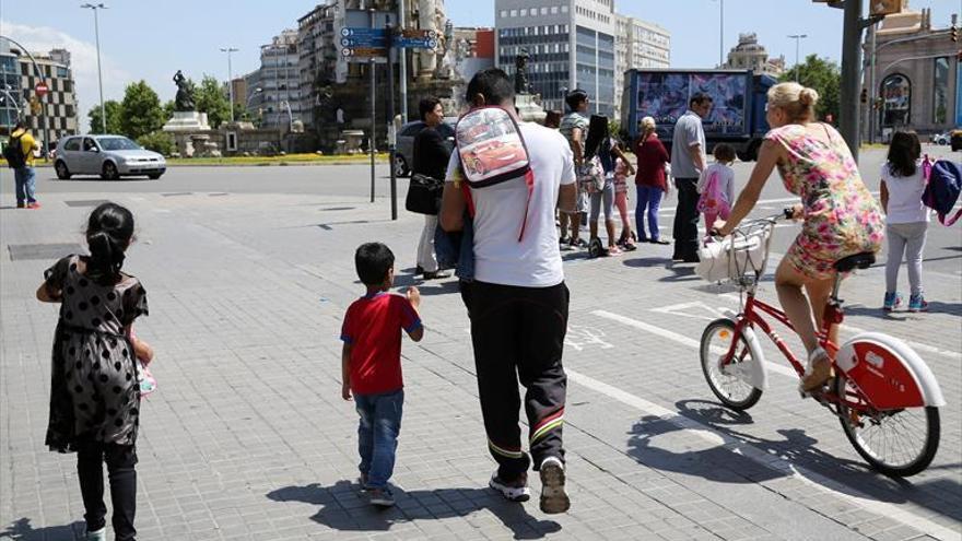
M361 423L357 426L357 468L367 475L368 489L384 489L395 469L395 451L401 431L404 390L383 395L354 395Z

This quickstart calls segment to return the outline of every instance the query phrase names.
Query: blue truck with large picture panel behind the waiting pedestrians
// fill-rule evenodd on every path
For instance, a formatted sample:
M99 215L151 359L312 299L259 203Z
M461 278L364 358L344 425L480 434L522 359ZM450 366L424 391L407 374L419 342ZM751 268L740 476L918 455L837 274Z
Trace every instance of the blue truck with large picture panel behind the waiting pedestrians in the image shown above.
M691 96L701 92L713 99L712 113L702 120L706 151L728 143L740 160L755 160L769 131L766 93L776 83L771 75L744 70L632 69L624 78L622 130L634 141L642 118L652 117L658 137L670 148L674 122L688 109Z

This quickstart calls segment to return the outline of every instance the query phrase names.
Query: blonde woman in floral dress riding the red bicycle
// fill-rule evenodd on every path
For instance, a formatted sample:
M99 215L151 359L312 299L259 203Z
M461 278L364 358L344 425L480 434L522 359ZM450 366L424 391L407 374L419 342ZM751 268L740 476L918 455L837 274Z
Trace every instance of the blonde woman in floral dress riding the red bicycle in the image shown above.
M801 198L801 204L795 205L795 216L803 220L801 233L778 264L775 286L808 351L808 369L801 380L806 392L822 387L831 377L829 355L816 333L821 325L816 322L821 322L832 292L833 264L847 256L878 251L884 231L879 205L861 181L842 136L816 120L818 98L814 90L798 83L781 83L769 90L765 110L772 129L728 221L715 222L718 234L731 234L758 202L776 166L785 188ZM838 343L837 337L838 327L834 326L829 339Z

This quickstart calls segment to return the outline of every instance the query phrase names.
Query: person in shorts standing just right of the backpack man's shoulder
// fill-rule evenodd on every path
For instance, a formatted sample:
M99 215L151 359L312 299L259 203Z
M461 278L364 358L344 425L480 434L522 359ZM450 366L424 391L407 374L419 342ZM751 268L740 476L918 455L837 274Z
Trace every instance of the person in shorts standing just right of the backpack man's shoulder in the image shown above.
M576 89L571 91L565 97L568 113L562 117L559 131L568 141L572 155L574 156L575 174L578 179L591 175L593 163L585 160L585 142L588 139L588 93ZM577 187L577 201L574 212L564 212L560 214L561 222L561 244L565 249L583 248L588 246L580 238L580 228L584 222L587 222L587 212L589 207L587 184ZM586 220L582 220L582 216ZM571 224L571 236L565 235L567 226Z

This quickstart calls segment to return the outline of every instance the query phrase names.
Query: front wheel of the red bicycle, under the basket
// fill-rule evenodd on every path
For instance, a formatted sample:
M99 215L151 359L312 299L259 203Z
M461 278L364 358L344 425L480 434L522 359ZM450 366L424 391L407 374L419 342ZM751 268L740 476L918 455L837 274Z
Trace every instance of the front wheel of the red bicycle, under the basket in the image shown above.
M738 371L752 361L751 349L743 336L738 337L735 357L725 368L722 358L731 348L735 339L735 321L726 318L708 324L702 333L702 372L712 392L725 405L734 410L747 410L762 398L762 390L739 377Z

